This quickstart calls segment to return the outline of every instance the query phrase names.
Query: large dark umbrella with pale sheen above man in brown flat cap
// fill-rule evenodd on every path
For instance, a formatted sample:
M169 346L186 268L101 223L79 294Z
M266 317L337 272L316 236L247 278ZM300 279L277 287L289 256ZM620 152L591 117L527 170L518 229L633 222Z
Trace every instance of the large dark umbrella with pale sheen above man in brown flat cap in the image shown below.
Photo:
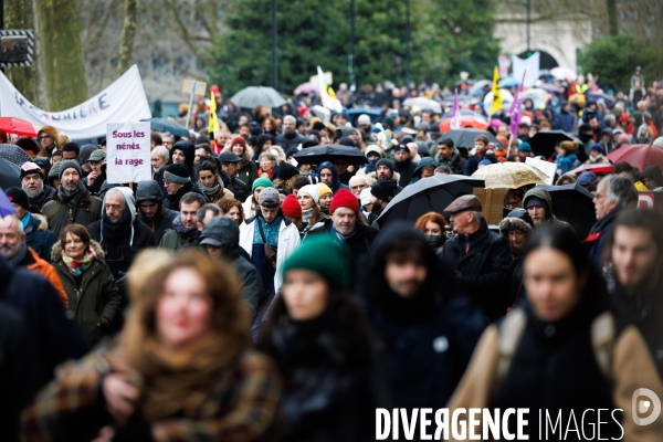
M428 212L442 213L457 197L472 194L484 181L457 175L435 175L406 187L378 218L380 228L394 220L417 221Z

